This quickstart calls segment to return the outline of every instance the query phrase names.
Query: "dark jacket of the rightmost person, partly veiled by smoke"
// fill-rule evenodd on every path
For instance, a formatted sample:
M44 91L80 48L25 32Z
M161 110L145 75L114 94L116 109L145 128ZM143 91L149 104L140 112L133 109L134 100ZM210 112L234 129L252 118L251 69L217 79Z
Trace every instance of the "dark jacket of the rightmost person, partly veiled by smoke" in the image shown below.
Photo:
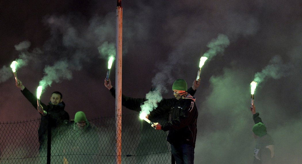
M259 113L253 115L255 124L262 122ZM262 122L263 123L263 122ZM274 140L269 134L256 138L256 146L254 148L253 164L273 164L275 157Z

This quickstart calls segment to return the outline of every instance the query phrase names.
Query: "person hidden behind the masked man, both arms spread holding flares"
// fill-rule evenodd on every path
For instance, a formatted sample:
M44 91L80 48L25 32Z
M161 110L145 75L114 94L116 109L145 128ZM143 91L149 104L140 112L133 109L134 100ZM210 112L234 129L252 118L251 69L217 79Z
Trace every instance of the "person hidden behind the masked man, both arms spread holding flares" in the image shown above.
M104 85L106 88L108 88L108 90L110 91L111 95L115 98L115 88L111 85L111 80L108 79L108 81L105 79L104 80ZM196 89L199 87L200 85L200 79L198 80L194 80L192 87L190 87L188 89L188 93L191 94L191 96L194 96ZM172 99L162 99L161 102L159 102L158 105L168 102L168 101L173 101L174 98ZM140 112L140 105L142 105L142 103L144 103L147 99L143 99L143 98L132 98L132 97L128 97L125 96L124 94L122 94L122 105L125 106L126 108L130 109L130 110L134 110L137 112Z

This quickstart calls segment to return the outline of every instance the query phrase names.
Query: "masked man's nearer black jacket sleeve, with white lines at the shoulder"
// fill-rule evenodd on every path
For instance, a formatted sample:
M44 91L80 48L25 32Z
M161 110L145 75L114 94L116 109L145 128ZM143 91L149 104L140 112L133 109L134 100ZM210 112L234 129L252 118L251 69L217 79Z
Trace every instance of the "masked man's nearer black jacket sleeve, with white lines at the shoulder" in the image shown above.
M184 128L196 121L197 116L198 111L194 101L187 101L177 118L162 124L162 130L169 131Z

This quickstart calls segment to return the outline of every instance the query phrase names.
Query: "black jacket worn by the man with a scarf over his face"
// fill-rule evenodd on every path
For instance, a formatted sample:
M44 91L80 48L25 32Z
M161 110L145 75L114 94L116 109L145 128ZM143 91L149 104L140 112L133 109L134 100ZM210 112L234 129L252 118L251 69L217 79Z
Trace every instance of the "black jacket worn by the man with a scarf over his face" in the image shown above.
M169 131L167 141L172 145L189 144L195 147L198 117L195 98L188 94L186 99L164 100L150 112L149 117L168 112L170 114L169 121L160 123L163 131Z

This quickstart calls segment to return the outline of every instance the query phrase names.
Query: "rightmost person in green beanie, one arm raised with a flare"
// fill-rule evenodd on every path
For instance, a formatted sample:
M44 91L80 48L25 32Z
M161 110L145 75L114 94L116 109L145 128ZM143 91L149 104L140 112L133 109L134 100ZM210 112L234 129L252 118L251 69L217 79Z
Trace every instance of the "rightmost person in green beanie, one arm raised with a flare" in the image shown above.
M274 141L271 136L267 134L266 126L259 117L259 113L256 113L255 105L252 106L251 111L255 122L252 131L256 139L253 164L273 164L275 159Z

